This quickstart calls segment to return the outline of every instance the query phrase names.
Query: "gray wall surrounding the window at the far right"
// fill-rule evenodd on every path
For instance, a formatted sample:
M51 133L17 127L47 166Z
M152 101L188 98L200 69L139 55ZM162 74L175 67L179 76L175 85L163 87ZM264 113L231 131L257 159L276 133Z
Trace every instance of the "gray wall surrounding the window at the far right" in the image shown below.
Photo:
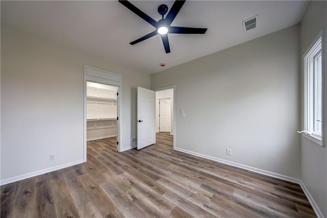
M311 1L301 23L301 59L319 32L327 28L326 19L327 2ZM327 148L305 137L301 137L301 180L327 217Z

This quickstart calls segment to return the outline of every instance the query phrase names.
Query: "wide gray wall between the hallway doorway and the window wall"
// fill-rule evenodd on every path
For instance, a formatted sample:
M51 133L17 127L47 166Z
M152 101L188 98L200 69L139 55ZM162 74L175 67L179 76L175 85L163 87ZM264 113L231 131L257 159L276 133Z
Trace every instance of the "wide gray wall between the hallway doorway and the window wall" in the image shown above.
M176 148L299 178L299 43L296 25L151 75L176 85Z

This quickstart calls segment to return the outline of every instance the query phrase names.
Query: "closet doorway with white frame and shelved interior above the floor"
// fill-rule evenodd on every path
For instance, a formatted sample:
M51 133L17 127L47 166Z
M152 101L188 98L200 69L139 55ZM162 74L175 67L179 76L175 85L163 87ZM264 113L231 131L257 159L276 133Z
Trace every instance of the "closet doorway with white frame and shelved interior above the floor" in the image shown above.
M113 142L114 150L121 151L121 89L121 75L84 65L84 162L90 140Z

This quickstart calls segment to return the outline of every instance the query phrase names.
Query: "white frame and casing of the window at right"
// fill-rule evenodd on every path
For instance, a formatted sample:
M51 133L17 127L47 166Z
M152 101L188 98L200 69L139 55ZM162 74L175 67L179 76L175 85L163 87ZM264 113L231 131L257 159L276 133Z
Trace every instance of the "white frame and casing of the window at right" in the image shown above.
M326 146L326 78L325 78L325 30L322 30L315 40L312 42L308 50L303 54L303 130L302 136L315 142L316 144L325 147ZM315 81L314 81L314 67L315 67L315 56L321 52L321 134L314 132L314 103L315 103Z

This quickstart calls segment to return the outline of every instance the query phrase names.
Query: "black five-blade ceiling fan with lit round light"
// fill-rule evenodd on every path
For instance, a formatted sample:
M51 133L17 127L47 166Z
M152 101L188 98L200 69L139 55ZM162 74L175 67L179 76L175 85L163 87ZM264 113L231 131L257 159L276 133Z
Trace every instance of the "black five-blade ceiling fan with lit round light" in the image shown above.
M168 33L182 33L182 34L204 34L207 30L206 28L193 28L193 27L173 27L170 26L173 23L173 20L175 19L176 15L178 14L179 10L185 3L185 1L175 1L172 8L168 12L167 5L160 5L158 7L158 13L162 16L162 19L159 21L155 21L150 16L148 16L143 11L136 8L133 4L126 0L119 0L119 2L124 5L126 8L134 12L136 15L147 21L149 24L151 24L153 27L156 28L155 31L138 38L132 42L130 42L131 45L134 45L138 42L141 42L143 40L146 40L152 36L155 36L159 34L162 39L162 43L164 43L165 51L166 53L170 53L170 47L169 47L169 41L168 41ZM167 14L166 17L164 15Z

